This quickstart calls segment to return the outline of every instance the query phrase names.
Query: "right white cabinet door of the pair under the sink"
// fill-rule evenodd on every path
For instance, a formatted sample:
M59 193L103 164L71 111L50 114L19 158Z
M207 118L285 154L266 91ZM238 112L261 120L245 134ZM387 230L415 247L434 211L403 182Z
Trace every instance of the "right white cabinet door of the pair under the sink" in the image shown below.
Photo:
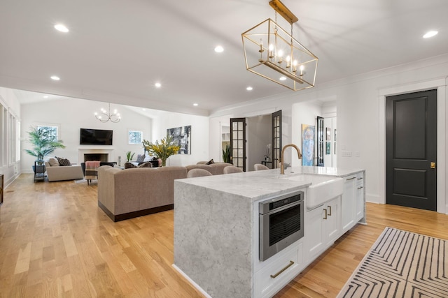
M327 202L323 211L326 210L326 218L323 218L323 227L325 228L325 242L326 246L330 246L341 235L341 221L340 221L340 197L334 198Z

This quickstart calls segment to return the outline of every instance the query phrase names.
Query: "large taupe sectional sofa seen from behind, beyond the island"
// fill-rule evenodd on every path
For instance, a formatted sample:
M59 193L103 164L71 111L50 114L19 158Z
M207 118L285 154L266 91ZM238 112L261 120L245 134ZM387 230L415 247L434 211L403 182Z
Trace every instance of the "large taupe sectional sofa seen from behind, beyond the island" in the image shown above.
M229 163L187 167L98 168L98 206L113 221L144 216L174 208L174 180L187 178L188 170L205 168L223 174ZM206 166L206 167L203 167Z

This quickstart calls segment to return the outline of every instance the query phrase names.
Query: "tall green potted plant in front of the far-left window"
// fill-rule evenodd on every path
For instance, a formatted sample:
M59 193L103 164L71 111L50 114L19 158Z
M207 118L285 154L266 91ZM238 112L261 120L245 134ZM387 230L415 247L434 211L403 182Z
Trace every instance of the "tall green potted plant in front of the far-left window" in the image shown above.
M57 140L51 131L46 127L31 127L28 132L29 142L33 145L33 149L25 149L27 154L36 157L38 168L33 166L34 173L45 172L43 158L52 154L57 148L65 148L62 140Z

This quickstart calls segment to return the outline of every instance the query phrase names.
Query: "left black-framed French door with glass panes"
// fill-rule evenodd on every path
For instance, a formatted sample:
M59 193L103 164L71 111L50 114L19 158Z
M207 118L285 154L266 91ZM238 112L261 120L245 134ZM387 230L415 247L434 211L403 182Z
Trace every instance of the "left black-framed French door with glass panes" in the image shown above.
M246 172L246 118L230 119L230 161Z

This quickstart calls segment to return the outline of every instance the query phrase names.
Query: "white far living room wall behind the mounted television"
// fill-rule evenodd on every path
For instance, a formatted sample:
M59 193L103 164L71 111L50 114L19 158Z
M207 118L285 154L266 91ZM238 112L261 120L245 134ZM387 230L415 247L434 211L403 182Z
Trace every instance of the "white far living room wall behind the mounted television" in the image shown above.
M94 117L94 112L101 107L107 108L106 104L93 100L83 100L78 98L44 101L40 103L30 103L22 105L22 149L31 149L28 142L28 134L31 126L53 125L59 127L59 139L64 142L65 149L57 149L52 156L68 158L71 163L82 163L78 158L79 149L110 149L109 161L126 161L126 151L143 154L142 144L128 144L127 133L130 130L142 131L143 138L152 140L151 119L141 114L132 112L123 105L111 105L111 110L117 109L122 119L118 123L111 121L102 123ZM113 131L112 146L92 146L80 145L80 128L106 129ZM22 150L22 172L32 172L31 165L34 165L34 156L29 156Z

